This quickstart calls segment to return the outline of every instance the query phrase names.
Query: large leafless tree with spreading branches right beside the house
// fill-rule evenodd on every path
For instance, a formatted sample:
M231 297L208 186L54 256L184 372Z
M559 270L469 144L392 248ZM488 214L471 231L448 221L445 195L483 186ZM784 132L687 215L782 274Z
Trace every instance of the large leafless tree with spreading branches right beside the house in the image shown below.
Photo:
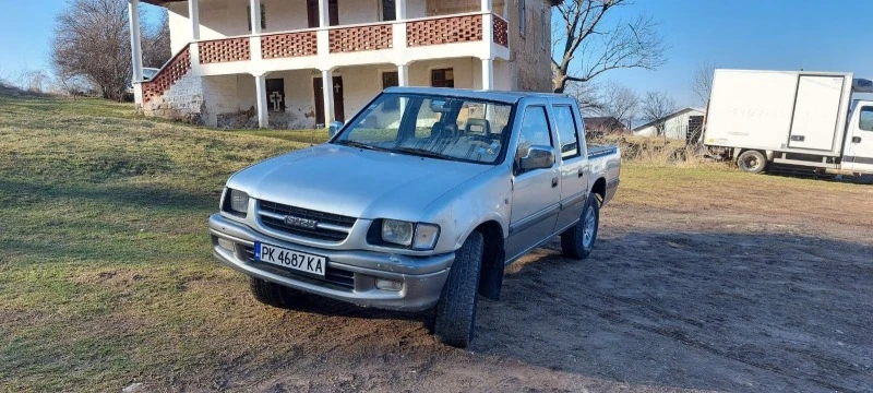
M612 10L631 3L631 0L560 2L561 25L552 50L555 93L563 93L567 82L586 83L609 70L655 70L666 63L663 37L651 17L639 15L630 21L605 22L603 16L612 15Z

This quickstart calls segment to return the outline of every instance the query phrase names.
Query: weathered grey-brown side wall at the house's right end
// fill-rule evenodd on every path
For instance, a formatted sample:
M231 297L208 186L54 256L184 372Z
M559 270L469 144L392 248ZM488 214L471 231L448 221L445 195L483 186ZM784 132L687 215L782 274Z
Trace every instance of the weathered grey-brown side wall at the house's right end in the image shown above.
M526 28L519 29L519 2L525 7ZM549 15L549 26L545 29L546 44L542 45L543 29L540 28L540 11ZM551 2L542 0L513 0L507 5L510 21L510 74L515 83L511 90L529 92L552 91L551 68Z

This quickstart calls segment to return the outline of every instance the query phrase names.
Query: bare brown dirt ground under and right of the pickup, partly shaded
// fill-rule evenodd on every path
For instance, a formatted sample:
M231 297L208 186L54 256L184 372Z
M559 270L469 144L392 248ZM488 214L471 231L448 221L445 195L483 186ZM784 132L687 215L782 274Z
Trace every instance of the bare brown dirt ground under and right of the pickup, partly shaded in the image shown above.
M265 343L267 367L229 359L204 378L267 392L873 391L873 187L731 179L621 191L589 260L552 242L510 267L469 350L435 343L427 314L319 302L271 311L287 329L268 341L292 353Z

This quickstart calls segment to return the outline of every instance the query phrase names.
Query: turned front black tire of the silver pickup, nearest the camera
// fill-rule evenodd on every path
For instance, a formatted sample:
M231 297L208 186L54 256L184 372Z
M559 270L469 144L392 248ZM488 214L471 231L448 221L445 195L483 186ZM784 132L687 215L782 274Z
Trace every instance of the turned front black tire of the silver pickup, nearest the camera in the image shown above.
M455 253L433 321L433 335L444 344L466 348L473 341L483 245L482 234L474 231Z

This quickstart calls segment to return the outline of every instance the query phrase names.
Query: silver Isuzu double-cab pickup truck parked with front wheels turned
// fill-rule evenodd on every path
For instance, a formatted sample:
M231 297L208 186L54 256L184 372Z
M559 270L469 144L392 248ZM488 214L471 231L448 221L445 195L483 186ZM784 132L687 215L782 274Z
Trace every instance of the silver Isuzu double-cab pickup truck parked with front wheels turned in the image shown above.
M559 235L591 252L621 160L583 130L563 95L387 88L327 143L231 176L213 253L264 303L435 309L436 337L466 347L505 265Z

